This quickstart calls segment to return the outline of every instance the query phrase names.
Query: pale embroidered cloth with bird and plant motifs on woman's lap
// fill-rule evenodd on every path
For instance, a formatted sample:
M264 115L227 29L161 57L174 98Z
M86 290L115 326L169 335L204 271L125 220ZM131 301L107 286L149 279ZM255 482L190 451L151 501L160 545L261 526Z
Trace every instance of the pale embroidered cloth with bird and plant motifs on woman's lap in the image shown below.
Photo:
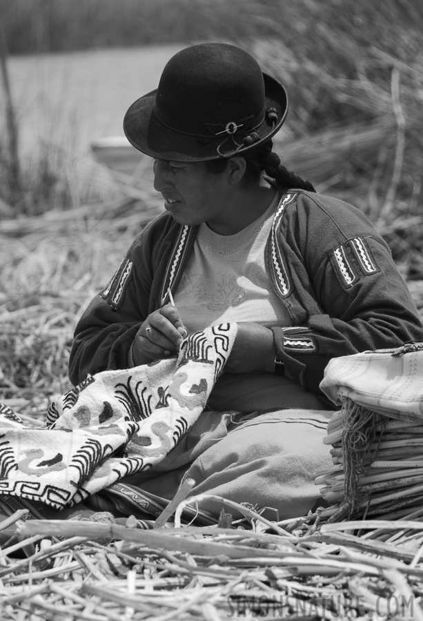
M213 326L177 358L89 376L52 404L43 429L0 405L0 494L61 509L159 463L204 410L236 332Z

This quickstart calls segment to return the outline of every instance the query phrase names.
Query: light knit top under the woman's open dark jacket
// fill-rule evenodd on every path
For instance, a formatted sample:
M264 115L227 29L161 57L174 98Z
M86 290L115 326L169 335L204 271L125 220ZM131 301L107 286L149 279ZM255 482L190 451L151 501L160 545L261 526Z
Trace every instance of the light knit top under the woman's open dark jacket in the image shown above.
M188 333L230 322L286 327L291 318L280 303L265 266L266 242L279 201L235 235L199 226L175 292L175 305Z

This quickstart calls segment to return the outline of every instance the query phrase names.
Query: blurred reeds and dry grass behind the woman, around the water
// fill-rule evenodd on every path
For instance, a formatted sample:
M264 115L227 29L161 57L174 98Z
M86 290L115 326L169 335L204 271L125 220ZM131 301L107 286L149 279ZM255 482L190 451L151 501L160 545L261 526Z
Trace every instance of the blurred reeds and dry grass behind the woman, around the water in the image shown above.
M286 166L364 210L423 306L422 0L0 0L0 19L6 65L208 39L251 50L288 89ZM150 181L64 149L14 161L0 122L0 396L44 404L68 387L81 310L161 206Z

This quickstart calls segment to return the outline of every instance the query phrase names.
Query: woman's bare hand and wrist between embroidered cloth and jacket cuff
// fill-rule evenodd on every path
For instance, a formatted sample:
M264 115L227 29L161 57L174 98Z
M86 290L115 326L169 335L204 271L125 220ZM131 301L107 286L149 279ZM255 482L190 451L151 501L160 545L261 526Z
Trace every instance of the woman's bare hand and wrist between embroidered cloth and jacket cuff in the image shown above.
M273 332L253 322L239 322L237 326L235 343L224 368L226 373L273 373L276 355Z

